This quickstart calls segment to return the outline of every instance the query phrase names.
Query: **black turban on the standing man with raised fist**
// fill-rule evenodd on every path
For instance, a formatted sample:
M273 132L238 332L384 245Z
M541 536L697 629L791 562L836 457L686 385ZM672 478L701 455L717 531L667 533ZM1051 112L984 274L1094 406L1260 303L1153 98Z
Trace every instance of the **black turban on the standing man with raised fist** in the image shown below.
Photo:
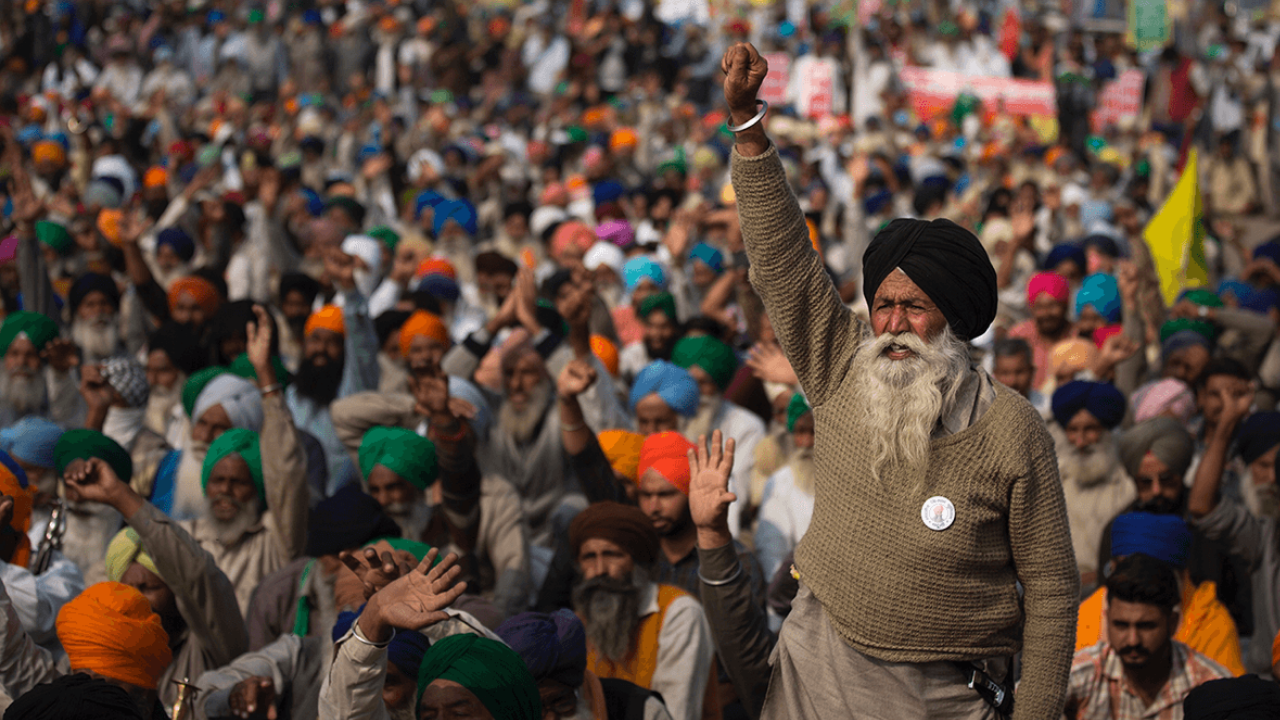
M933 300L960 340L980 336L996 319L996 269L978 238L951 220L899 218L876 234L863 254L869 309L896 268Z

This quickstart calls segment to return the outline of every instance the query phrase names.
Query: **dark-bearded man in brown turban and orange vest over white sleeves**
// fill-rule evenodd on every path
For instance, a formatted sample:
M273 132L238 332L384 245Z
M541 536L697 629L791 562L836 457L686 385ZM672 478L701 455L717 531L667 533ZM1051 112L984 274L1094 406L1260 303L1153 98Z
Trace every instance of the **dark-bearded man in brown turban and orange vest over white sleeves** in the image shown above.
M653 580L660 543L649 518L596 502L573 519L570 546L586 669L662 694L675 720L719 717L707 616L695 597Z

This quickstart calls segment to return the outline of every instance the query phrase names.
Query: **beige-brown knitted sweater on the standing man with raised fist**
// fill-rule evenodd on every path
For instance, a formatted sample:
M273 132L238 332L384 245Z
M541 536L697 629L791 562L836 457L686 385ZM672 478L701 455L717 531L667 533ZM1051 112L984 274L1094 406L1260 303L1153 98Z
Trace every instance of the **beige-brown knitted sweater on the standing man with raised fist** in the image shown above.
M998 386L980 419L933 441L924 477L869 479L869 448L850 413L858 378L849 374L869 329L823 273L777 150L735 151L732 172L751 284L814 406L817 488L813 523L796 548L801 579L840 635L879 660L1021 650L1015 719L1060 717L1079 579L1043 420ZM920 518L933 496L955 506L942 532Z

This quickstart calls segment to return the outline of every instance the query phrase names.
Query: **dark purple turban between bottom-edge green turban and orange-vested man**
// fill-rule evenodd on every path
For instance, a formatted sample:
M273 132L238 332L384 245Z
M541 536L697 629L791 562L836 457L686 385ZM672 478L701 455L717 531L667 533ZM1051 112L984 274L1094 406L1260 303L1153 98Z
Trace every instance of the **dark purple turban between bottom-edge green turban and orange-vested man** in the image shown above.
M581 687L586 673L586 629L572 610L521 612L498 626L498 637L520 655L534 680Z

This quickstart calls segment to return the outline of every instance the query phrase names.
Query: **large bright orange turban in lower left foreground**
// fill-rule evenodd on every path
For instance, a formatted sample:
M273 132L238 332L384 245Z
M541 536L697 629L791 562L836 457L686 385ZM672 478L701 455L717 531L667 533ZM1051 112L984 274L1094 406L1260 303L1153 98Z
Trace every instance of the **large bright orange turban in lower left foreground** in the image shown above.
M58 614L58 639L72 670L155 689L169 664L169 634L141 592L122 583L90 585Z

